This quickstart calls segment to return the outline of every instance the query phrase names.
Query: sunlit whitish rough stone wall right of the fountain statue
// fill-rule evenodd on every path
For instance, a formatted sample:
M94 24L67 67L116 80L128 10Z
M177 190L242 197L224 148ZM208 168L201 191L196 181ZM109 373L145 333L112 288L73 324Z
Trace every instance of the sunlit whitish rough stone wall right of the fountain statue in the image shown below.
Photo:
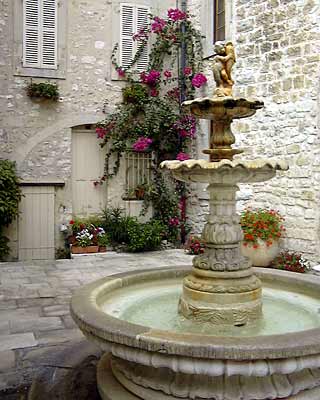
M190 2L198 21L197 10L204 3ZM245 149L247 159L278 157L290 165L288 172L269 182L242 186L240 208L279 210L287 228L282 246L319 262L319 2L232 3L232 25L227 38L236 44L238 57L234 94L265 102L265 108L254 117L233 123L236 145ZM210 92L211 87L212 80ZM198 197L201 205L202 192ZM201 209L199 214L203 219Z

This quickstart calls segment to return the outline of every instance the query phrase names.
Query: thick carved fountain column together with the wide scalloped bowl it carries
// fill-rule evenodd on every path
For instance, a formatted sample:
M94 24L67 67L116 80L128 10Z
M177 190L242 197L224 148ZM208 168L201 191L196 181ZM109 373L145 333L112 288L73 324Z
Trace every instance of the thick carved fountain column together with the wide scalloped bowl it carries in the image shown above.
M178 180L209 183L210 213L202 232L205 251L194 257L192 273L183 281L179 312L196 322L214 325L241 326L259 319L261 282L240 251L237 183L271 179L287 166L270 160L165 161L161 166Z

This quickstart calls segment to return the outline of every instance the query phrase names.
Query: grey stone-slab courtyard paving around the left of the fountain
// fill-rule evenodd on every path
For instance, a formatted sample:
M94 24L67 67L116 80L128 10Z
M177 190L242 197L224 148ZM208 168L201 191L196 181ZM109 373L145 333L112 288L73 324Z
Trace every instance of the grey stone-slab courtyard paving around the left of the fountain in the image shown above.
M0 391L30 383L50 352L83 339L69 313L76 288L124 271L186 264L191 257L182 250L0 263Z

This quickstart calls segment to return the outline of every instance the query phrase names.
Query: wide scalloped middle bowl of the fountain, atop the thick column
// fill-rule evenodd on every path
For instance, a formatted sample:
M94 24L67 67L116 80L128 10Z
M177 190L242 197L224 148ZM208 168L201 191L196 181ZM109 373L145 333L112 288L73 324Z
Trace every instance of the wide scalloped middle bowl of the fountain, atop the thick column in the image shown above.
M282 160L207 160L164 161L161 168L170 170L173 176L184 182L235 185L237 183L262 182L273 178L277 171L286 171Z

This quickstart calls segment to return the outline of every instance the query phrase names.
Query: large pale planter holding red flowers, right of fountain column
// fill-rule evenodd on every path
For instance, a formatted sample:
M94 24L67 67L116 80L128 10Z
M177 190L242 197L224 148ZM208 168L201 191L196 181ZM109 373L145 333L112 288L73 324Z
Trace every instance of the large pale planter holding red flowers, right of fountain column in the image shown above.
M271 246L267 246L266 242L258 240L257 248L254 248L251 243L242 242L241 252L245 257L250 258L254 267L268 267L279 254L279 242L275 240Z

